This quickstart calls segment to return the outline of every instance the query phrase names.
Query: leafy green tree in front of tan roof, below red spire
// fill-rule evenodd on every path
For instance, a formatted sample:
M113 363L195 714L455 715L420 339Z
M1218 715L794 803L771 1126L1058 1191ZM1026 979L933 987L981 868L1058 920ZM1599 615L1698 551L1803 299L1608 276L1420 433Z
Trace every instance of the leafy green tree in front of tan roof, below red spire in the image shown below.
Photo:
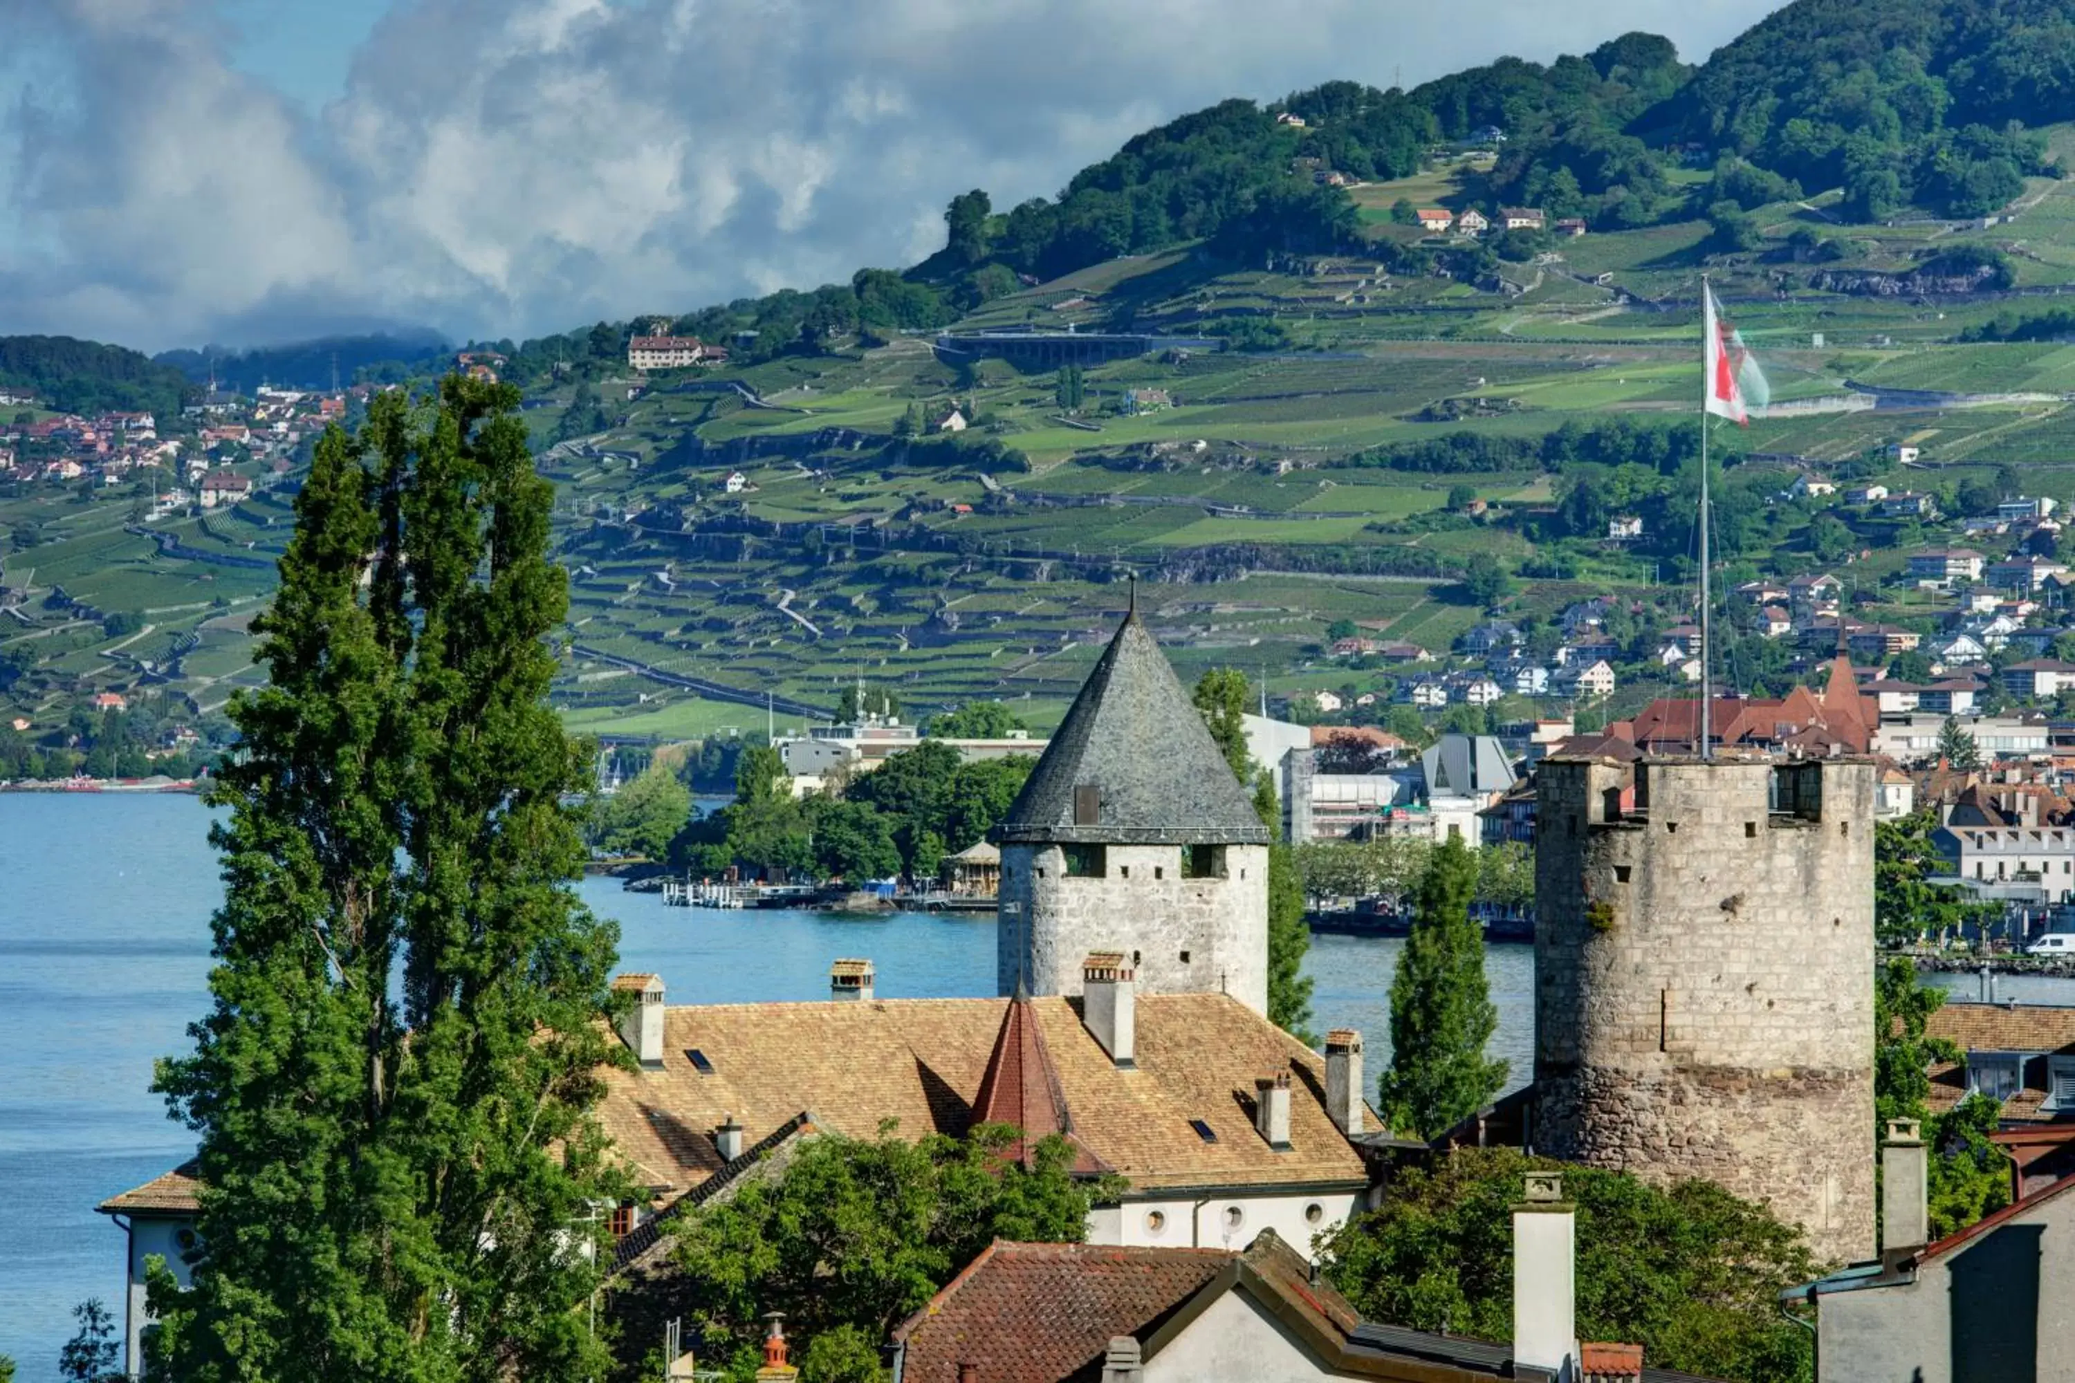
M903 1142L890 1124L876 1140L815 1136L780 1176L753 1178L685 1221L687 1325L716 1358L753 1368L759 1317L782 1310L805 1344L803 1377L815 1358L849 1368L861 1354L876 1366L892 1327L990 1242L1079 1242L1089 1205L1123 1190L1116 1178L1077 1182L1064 1138L1038 1142L1029 1165L1002 1157L1015 1140L1000 1124L957 1140Z

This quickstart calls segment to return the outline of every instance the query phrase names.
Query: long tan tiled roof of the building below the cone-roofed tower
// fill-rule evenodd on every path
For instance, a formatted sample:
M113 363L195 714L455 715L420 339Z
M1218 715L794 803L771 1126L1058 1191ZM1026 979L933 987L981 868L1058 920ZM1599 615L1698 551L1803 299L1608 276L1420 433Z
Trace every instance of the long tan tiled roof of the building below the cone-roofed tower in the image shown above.
M600 1120L664 1201L720 1169L712 1130L749 1138L809 1111L824 1132L963 1134L973 1124L1008 999L714 1004L664 1010L660 1070L604 1072ZM1075 1140L1135 1188L1361 1182L1326 1113L1324 1060L1220 993L1137 997L1137 1070L1116 1070L1081 1026L1079 999L1029 1001ZM699 1074L687 1051L712 1066ZM1253 1082L1293 1072L1291 1151L1253 1130ZM1216 1142L1206 1142L1201 1120Z

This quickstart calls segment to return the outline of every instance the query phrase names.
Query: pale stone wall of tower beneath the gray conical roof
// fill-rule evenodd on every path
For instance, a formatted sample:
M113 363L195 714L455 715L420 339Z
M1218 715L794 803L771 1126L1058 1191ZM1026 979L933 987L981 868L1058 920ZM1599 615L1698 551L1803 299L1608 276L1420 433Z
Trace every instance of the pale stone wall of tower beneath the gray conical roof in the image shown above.
M1266 846L1224 846L1222 879L1185 879L1183 846L1104 854L1104 877L1069 879L1058 846L1002 846L1000 993L1021 970L1033 995L1075 995L1089 952L1125 952L1141 993L1222 991L1268 1012Z

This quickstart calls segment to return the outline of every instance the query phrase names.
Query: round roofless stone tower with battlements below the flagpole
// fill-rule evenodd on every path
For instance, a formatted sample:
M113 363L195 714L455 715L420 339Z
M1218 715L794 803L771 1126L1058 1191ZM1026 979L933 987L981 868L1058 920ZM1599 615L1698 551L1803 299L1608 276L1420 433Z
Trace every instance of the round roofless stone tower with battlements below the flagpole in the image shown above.
M1874 1254L1874 786L1863 759L1540 765L1536 1151Z

